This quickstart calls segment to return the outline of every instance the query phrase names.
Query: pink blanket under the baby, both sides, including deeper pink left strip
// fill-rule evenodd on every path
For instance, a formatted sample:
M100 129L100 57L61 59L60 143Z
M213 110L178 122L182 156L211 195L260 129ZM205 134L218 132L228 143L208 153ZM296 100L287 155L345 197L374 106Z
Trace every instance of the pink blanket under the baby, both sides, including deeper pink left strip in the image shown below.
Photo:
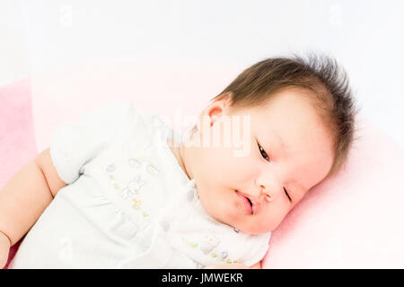
M130 69L125 70L122 65L127 63ZM168 78L159 78L159 84L150 91L151 83L156 81L155 73L147 75L146 65L147 71L155 71L150 67L153 65L150 60L144 65L137 62L134 65L130 59L125 59L115 70L114 67L75 67L63 71L63 76L54 74L49 80L48 75L44 81L37 81L35 97L32 97L29 79L0 88L0 186L3 187L16 170L36 155L37 146L48 144L47 137L54 126L74 119L77 109L81 112L90 109L94 102L91 97L105 101L113 94L116 100L131 99L140 103L139 109L148 108L146 111L156 110L160 114L160 111L166 112L179 105L167 90L172 81L180 76L183 78L184 74L198 78L195 76L198 72L192 71L189 65L189 69L179 68L171 71ZM133 75L132 69L137 71L133 78L129 73L117 73L131 71ZM101 74L97 74L99 70ZM209 67L204 71L214 69ZM168 74L166 72L162 74ZM207 76L205 72L203 74ZM217 78L220 73L212 74L212 77ZM92 77L88 78L86 74L92 74ZM208 80L204 81L203 87L199 84L200 95L212 94L215 90L207 85ZM216 86L219 85L216 83ZM147 92L164 92L161 99L165 101L155 106L154 100L145 97ZM178 96L179 101L184 99L187 98ZM206 102L205 98L198 98L198 101L198 106ZM80 107L74 104L78 102L82 103ZM32 103L37 115L36 130L32 124ZM191 110L192 113L197 111ZM47 117L41 117L43 115ZM49 121L49 117L54 120ZM404 202L404 152L367 120L361 119L357 135L359 138L346 169L315 187L273 232L264 268L404 268L404 212L401 206ZM14 250L15 247L11 257Z

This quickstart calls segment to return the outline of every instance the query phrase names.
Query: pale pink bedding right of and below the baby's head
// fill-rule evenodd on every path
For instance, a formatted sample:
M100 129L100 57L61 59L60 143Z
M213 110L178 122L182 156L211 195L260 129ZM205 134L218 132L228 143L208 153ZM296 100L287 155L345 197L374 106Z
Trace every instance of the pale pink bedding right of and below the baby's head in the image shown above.
M274 230L264 268L404 267L404 152L359 121L346 168Z

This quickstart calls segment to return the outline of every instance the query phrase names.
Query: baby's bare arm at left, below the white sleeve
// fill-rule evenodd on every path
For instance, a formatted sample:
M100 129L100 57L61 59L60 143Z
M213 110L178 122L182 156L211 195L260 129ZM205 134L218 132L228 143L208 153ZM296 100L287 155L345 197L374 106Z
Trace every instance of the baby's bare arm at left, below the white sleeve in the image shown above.
M27 163L0 190L0 268L9 248L31 229L60 188L66 187L49 151Z

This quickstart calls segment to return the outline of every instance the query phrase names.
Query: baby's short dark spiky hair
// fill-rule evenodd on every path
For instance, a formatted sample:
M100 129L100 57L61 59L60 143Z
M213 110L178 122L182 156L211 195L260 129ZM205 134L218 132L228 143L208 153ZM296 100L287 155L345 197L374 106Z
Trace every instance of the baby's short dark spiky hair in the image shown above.
M314 54L267 58L244 70L212 100L230 93L232 109L251 108L265 104L275 91L293 87L312 100L333 136L334 161L328 178L347 159L357 114L347 73L335 59Z

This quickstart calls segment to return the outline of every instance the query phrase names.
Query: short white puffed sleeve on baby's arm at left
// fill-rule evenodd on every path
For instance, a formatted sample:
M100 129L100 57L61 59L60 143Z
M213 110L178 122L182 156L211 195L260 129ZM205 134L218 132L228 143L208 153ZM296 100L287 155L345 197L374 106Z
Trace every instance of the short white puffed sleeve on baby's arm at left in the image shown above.
M84 164L122 137L137 117L130 101L117 101L58 126L50 139L50 157L59 177L66 184L75 182Z

